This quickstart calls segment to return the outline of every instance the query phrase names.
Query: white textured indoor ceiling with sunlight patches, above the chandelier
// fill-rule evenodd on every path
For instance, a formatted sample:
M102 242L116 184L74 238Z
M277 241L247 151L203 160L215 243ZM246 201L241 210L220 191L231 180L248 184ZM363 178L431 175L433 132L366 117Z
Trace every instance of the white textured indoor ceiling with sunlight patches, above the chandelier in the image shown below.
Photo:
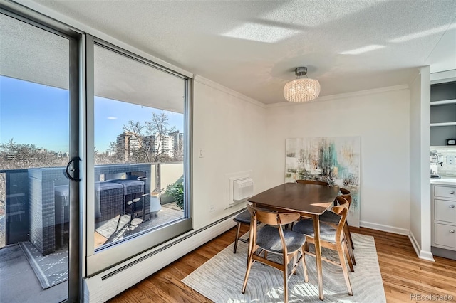
M299 66L321 96L456 69L456 1L35 2L265 104Z

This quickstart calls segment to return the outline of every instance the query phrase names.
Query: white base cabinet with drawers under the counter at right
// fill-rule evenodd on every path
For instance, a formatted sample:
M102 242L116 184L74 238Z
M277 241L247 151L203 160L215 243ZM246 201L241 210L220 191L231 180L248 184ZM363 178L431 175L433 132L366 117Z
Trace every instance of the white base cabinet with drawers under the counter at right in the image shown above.
M456 260L456 184L432 184L432 254Z

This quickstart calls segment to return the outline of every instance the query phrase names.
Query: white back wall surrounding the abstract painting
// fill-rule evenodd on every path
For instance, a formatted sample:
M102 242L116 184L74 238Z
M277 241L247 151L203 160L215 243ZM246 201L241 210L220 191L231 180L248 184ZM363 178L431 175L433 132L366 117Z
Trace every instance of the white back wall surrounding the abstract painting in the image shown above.
M286 138L361 136L361 226L408 235L406 86L268 107L266 186L284 182Z

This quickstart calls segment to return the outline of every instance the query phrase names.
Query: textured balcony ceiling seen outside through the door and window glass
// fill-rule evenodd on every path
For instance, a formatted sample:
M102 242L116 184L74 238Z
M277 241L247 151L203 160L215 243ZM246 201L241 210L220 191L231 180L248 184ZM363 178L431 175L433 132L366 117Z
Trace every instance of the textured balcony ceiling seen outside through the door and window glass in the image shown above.
M4 14L0 37L0 75L68 90L68 39ZM96 96L184 112L182 78L100 46L94 57Z

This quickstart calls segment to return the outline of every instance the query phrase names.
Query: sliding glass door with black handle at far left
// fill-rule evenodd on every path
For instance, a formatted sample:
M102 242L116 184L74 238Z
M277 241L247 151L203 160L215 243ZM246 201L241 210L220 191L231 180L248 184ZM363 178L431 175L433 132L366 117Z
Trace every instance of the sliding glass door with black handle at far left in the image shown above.
M0 302L61 302L78 294L78 42L1 13Z

